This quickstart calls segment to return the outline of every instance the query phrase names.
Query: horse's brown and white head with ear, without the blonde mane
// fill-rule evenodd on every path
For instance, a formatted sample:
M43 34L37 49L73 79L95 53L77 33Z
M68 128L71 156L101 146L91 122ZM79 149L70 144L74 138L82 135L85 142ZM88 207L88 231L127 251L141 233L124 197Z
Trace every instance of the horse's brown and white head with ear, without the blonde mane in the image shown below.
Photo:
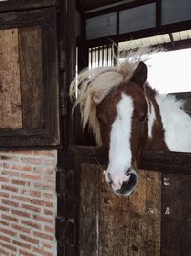
M138 183L137 164L148 134L146 79L147 67L139 62L130 80L96 106L102 142L109 151L105 179L116 194L129 195Z

